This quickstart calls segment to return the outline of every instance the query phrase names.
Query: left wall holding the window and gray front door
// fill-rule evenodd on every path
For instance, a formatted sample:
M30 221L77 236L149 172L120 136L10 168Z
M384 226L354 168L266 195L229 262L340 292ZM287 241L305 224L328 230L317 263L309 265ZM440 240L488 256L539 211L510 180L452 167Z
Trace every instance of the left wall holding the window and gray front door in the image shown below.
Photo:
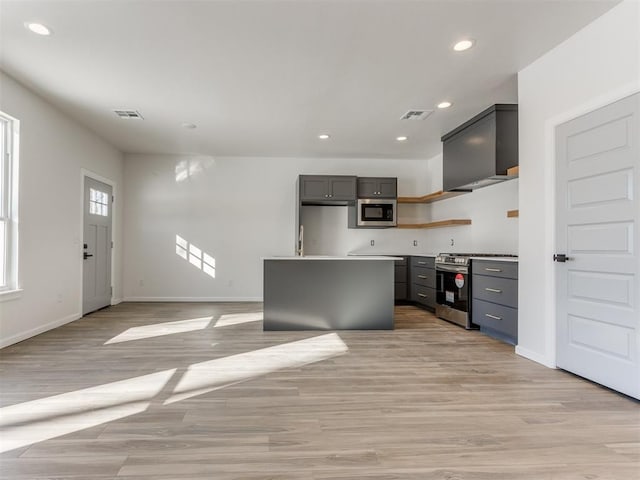
M0 72L0 110L20 121L18 298L0 298L0 346L81 316L81 170L122 185L122 155ZM121 296L122 203L114 222L114 296ZM6 297L5 297L6 298Z

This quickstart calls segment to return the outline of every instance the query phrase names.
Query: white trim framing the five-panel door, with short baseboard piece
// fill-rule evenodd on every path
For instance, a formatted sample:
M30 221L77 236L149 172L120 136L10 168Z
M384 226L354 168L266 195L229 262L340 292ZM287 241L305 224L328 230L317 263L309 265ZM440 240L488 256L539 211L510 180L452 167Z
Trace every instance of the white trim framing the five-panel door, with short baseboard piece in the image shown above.
M631 82L622 87L610 90L602 95L593 97L589 101L583 102L545 121L545 175L544 175L544 209L545 224L541 226L549 231L545 239L545 277L543 281L546 285L546 295L542 316L545 319L545 351L533 352L528 349L516 346L516 353L525 358L541 363L549 368L557 367L557 296L556 296L556 275L555 265L551 261L555 253L556 245L556 127L574 118L585 115L589 112L605 107L611 103L625 97L640 92L640 84Z

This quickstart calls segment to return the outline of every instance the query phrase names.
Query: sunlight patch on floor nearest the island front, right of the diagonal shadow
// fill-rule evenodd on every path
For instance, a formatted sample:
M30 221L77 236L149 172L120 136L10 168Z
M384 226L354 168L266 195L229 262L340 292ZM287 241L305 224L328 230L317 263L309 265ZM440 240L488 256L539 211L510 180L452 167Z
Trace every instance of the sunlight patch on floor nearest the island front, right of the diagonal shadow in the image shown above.
M229 385L342 355L349 347L336 333L261 348L189 366L165 405Z

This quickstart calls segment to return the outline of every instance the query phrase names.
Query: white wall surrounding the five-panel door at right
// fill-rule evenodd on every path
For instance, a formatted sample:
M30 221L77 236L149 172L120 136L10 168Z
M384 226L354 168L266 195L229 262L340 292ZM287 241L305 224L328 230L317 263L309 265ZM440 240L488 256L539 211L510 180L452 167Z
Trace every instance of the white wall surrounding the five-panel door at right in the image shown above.
M516 351L555 366L554 127L640 89L640 3L626 1L518 75L520 273Z

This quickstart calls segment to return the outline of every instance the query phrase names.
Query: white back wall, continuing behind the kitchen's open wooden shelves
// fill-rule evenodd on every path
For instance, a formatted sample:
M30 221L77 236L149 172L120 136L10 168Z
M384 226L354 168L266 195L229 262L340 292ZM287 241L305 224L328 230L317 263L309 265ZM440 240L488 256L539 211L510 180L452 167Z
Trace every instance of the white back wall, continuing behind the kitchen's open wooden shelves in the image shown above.
M259 300L261 257L294 253L298 175L396 176L400 195L424 195L433 182L430 167L441 169L441 161L126 155L125 299ZM506 211L517 208L517 181L508 183L400 207L403 222L453 215L471 218L468 227L348 229L347 207L303 207L305 253L437 252L451 250L451 236L468 248L514 253L517 223ZM215 258L215 278L177 255L176 235Z

